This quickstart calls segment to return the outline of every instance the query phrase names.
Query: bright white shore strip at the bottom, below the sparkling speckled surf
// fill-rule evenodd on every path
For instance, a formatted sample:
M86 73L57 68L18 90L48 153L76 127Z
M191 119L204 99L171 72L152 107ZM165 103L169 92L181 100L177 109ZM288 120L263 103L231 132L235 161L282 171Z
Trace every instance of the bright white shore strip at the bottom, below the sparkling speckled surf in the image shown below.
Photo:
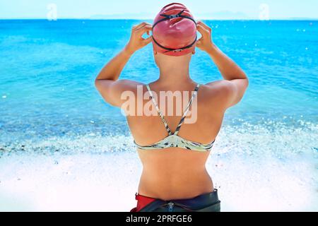
M305 156L212 155L207 168L223 211L318 210L317 174ZM0 210L128 211L141 164L136 153L15 155L0 170Z

